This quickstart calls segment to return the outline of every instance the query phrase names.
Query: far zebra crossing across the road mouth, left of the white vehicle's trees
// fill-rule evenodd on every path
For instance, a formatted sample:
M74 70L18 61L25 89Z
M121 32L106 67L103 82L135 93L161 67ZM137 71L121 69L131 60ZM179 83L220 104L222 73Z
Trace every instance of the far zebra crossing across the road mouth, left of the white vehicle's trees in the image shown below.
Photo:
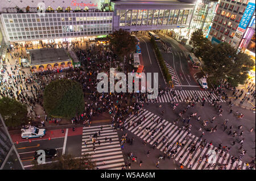
M199 99L199 102L203 102L203 97L206 102L211 102L213 99L219 99L220 102L226 102L225 100L221 99L220 97L216 96L214 93L210 95L209 91L201 91L201 90L174 90L175 95L173 96L169 91L165 92L162 95L158 95L158 99L156 102L159 103L168 103L171 102L171 100L174 100L174 102L189 102L193 98L195 101ZM210 97L209 97L210 95ZM155 102L154 99L148 99L149 103Z

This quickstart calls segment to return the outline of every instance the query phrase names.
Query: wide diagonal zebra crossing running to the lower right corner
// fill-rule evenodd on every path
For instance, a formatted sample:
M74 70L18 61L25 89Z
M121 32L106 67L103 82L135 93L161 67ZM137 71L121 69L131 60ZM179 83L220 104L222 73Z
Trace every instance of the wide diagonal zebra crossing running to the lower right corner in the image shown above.
M153 120L154 119L154 120ZM134 125L138 120L142 120L142 123L139 125ZM216 163L216 165L210 165L210 170L217 170L218 165L228 164L226 169L231 170L235 169L238 166L241 166L241 169L246 169L246 163L241 160L235 161L232 163L232 155L226 154L226 157L220 156L220 151L216 153L216 147L209 144L205 145L204 148L199 148L201 144L201 139L195 135L190 135L188 137L188 132L177 127L175 124L168 122L167 120L160 121L160 117L151 113L150 111L143 110L137 116L131 116L125 121L125 129L131 133L137 135L142 140L147 141L148 144L154 145L156 141L156 149L160 151L166 151L168 149L177 149L177 153L174 155L174 160L183 163L184 166L190 167L192 170L205 170L208 169L209 164ZM164 125L164 127L163 127ZM147 129L146 129L147 128ZM148 128L150 131L155 130L153 137L150 136L150 131L147 131ZM152 135L152 134L151 134ZM163 142L164 136L167 137L166 142ZM177 148L176 142L183 144ZM188 148L191 144L195 144L195 151L192 153L189 152ZM168 146L167 146L168 145ZM208 161L206 161L205 155L210 155ZM225 155L225 151L223 153Z

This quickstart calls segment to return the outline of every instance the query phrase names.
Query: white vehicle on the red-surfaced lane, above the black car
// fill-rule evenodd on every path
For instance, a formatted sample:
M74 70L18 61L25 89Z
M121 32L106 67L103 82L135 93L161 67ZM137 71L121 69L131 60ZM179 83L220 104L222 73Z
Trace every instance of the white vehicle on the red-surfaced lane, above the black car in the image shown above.
M28 129L21 129L22 134L21 137L28 138L42 138L46 134L46 129L39 129L36 127L29 127Z

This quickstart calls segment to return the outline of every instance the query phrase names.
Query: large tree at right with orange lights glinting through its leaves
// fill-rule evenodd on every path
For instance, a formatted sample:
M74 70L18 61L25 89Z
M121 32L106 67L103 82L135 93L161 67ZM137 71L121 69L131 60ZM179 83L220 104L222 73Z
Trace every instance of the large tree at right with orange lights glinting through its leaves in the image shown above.
M212 83L227 79L232 86L245 83L247 72L253 69L254 61L245 53L237 53L237 49L228 43L212 44L204 57L203 69L207 71Z

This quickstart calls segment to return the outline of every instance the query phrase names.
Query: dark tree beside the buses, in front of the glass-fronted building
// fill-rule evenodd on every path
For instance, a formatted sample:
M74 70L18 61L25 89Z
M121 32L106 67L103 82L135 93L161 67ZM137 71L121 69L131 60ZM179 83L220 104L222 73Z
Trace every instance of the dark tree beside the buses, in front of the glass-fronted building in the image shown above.
M136 49L136 39L129 32L119 29L110 34L110 47L119 60Z

